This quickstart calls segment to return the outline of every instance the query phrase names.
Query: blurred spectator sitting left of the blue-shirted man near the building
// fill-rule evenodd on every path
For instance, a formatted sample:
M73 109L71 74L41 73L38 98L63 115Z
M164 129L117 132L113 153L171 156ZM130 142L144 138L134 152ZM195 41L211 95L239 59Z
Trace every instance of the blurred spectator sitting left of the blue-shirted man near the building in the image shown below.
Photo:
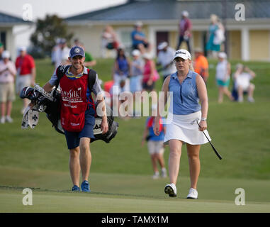
M101 37L101 49L103 50L102 56L105 57L105 51L117 50L119 47L118 38L116 32L112 26L106 26Z

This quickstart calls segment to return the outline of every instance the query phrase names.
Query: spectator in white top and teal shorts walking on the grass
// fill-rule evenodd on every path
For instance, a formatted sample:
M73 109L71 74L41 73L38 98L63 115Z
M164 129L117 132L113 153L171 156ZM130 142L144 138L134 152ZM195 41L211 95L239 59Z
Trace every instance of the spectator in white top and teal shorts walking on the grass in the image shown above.
M230 84L230 62L227 62L227 55L225 52L218 53L218 65L215 70L215 79L218 84L218 103L223 102L223 94L233 101L233 96L228 90Z

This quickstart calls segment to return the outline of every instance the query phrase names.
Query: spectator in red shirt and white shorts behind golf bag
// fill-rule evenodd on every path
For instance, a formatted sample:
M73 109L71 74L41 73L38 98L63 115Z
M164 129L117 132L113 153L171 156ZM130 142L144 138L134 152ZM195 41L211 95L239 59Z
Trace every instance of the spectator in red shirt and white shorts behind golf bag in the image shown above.
M35 61L31 55L26 52L26 47L19 49L20 55L16 58L16 92L20 94L23 87L35 85ZM28 99L23 99L23 109L21 114L24 113L26 107L29 104Z

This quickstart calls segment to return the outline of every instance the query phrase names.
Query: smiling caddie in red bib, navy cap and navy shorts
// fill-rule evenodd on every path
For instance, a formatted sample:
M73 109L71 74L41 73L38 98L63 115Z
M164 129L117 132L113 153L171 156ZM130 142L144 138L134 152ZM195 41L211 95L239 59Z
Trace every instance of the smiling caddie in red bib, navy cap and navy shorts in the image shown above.
M84 49L74 46L69 52L69 60L72 65L62 77L59 77L60 67L55 70L50 81L43 89L50 92L59 83L61 113L60 120L69 149L69 170L72 178L72 191L90 192L89 172L91 166L90 140L94 139L94 123L96 114L94 100L91 92L98 98L98 105L101 104L103 111L101 131L108 131L106 106L102 90L99 84L99 77L92 87L89 87L89 69L84 66ZM81 188L79 188L79 176L81 170Z

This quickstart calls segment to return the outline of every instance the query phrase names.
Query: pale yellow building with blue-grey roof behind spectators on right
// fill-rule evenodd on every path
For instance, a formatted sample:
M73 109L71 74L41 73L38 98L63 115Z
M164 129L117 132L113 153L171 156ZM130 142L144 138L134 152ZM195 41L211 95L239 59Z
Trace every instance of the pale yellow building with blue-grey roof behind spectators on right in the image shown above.
M181 11L189 11L193 23L191 46L205 48L210 14L223 19L227 29L226 52L231 59L270 61L270 1L242 0L244 21L237 21L237 0L130 0L125 4L65 18L69 30L95 57L101 56L101 33L109 24L120 42L130 48L130 32L135 21L142 21L143 31L157 47L167 40L176 48ZM239 16L239 13L238 13ZM182 46L184 48L185 45ZM156 48L153 50L156 54Z

